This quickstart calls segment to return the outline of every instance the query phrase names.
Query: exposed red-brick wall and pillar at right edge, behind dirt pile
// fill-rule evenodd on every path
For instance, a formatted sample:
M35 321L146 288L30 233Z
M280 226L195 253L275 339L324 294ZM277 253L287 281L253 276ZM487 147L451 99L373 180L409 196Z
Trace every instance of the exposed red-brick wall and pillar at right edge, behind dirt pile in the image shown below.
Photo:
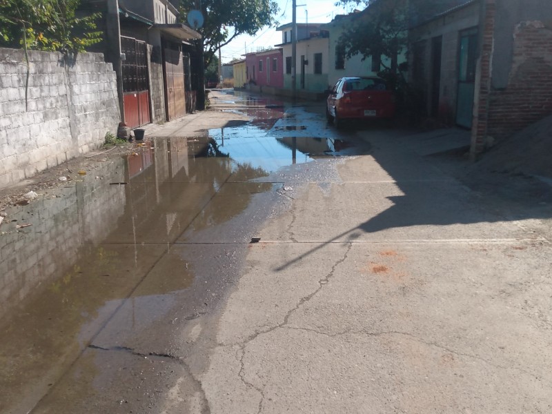
M511 57L497 46L504 41L498 28L496 0L486 0L480 70L475 88L474 124L471 155L475 159L489 141L513 135L552 114L552 28L538 20L517 21L509 36L513 40ZM542 10L546 17L545 10ZM502 24L504 26L504 24ZM502 59L502 60L501 60ZM493 78L497 63L509 68L503 84ZM500 87L496 84L499 83Z

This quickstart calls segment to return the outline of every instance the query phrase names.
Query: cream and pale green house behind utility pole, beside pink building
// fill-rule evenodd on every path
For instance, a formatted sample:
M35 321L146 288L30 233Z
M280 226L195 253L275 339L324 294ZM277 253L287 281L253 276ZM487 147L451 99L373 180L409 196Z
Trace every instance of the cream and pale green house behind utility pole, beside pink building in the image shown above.
M329 32L323 23L297 23L296 88L301 97L316 98L328 88ZM292 32L293 24L287 23L276 30L282 32L282 48L285 62L284 89L292 90Z

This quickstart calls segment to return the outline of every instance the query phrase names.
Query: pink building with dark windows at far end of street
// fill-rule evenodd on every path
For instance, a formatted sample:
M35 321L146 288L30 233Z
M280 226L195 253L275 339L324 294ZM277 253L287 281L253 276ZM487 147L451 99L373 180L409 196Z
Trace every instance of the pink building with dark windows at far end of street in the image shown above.
M284 87L282 48L246 55L246 79L257 86Z

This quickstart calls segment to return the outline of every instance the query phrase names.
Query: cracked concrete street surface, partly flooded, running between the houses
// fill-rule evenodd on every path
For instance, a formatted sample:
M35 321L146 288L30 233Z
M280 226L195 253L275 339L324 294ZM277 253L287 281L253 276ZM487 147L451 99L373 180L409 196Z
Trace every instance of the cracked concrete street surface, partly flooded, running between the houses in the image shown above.
M6 325L1 413L552 412L546 208L466 185L446 137L211 99L85 181L120 200Z

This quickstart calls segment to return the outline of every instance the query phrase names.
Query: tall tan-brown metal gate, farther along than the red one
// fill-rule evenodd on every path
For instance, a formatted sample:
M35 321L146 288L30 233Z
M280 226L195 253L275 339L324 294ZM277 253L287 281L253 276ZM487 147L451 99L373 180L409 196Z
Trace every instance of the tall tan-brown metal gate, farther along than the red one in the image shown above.
M186 115L186 92L184 92L184 62L182 52L165 49L165 100L167 120Z

